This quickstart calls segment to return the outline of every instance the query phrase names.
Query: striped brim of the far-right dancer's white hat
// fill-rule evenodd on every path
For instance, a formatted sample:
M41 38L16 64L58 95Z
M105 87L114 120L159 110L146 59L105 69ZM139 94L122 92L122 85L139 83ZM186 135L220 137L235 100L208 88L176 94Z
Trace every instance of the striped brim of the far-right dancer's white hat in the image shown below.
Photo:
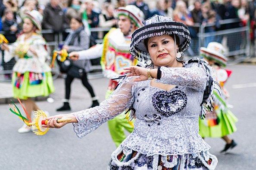
M215 62L221 64L222 66L226 66L228 59L225 57L225 55L222 55L216 51L207 49L205 47L200 48L200 55L203 55L203 57L214 60Z

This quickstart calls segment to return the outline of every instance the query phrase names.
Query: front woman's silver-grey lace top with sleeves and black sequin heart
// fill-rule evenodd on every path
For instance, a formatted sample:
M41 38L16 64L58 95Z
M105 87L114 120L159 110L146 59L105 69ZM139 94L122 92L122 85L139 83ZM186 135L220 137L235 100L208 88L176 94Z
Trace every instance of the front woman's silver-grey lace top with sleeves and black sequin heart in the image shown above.
M133 106L136 110L134 131L123 141L128 148L146 155L182 155L209 150L199 136L198 117L207 76L197 63L185 67L161 67L158 82L177 85L170 91L150 86L150 80L133 82L126 78L109 99L91 109L73 113L78 123L78 137L95 130L100 124ZM172 114L165 114L166 111Z

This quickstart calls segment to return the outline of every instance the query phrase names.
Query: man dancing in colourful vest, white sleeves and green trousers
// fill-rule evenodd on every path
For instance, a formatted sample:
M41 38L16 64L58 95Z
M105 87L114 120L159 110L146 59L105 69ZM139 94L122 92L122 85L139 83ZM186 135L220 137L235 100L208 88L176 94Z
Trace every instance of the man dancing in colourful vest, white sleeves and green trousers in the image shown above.
M103 44L80 51L69 53L70 58L74 60L93 59L101 57L101 65L104 76L113 79L123 74L123 68L137 64L137 60L130 54L131 34L137 28L141 27L144 21L144 14L134 5L119 7L116 10L118 18L118 27L109 30L109 33L103 39ZM116 85L115 80L110 80L106 98L112 93ZM108 121L111 137L116 147L125 140L125 131L132 132L134 125L132 121L128 121L125 113Z

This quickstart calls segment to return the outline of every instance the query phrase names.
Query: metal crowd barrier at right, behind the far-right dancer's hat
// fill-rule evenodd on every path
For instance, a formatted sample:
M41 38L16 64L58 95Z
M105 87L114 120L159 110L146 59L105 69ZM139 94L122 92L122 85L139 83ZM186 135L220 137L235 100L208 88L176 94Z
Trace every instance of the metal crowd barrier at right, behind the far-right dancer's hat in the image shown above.
M241 20L234 18L219 21L222 27L235 23L237 25L241 24ZM198 33L198 53L200 53L200 47L207 47L209 42L215 41L221 43L227 49L228 64L237 64L251 57L250 26L248 24L242 27L230 27L229 29L206 32L207 28L212 26L215 26L215 23L201 24Z

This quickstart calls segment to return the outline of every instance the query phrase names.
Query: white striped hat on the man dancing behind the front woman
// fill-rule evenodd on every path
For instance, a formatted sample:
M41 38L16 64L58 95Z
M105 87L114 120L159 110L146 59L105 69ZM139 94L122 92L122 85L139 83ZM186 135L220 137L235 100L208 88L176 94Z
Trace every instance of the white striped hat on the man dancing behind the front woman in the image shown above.
M123 15L131 19L131 21L136 25L137 28L143 26L144 13L134 5L127 5L125 7L119 7L115 12L116 18Z

